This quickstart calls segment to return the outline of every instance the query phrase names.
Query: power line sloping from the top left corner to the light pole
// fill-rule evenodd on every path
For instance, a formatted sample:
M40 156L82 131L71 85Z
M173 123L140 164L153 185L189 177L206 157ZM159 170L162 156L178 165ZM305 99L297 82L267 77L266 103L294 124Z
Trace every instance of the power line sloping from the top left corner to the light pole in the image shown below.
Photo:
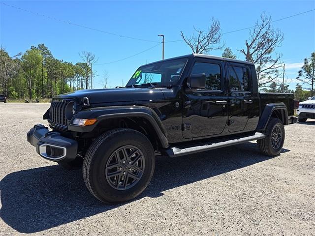
M18 9L18 10L21 10L21 11L25 11L25 12L28 12L28 13L32 13L34 15L46 17L46 18L49 18L51 20L59 21L59 22L62 22L62 23L68 24L68 25L81 27L81 28L84 28L84 29L90 29L90 30L94 30L94 31L97 31L97 32L102 32L102 33L106 33L106 34L110 34L110 35L114 35L114 36L119 36L121 38L135 39L135 40L141 40L141 41L146 41L146 42L155 42L155 43L159 42L159 41L154 41L154 40L148 40L148 39L143 39L143 38L135 38L135 37L130 37L130 36L122 35L122 34L107 32L107 31L104 31L104 30L101 30L101 29L95 29L95 28L91 28L91 27L87 27L87 26L82 26L82 25L75 24L75 23L68 22L68 21L64 21L64 20L61 20L61 19L58 19L58 18L55 18L55 17L46 16L44 14L33 12L33 11L30 11L30 10L27 10L27 9L24 9L24 8L21 8L21 7L18 7L18 6L10 5L10 4L4 3L4 2L0 2L0 3L3 4L3 5L6 5L6 6L13 7L13 8Z

